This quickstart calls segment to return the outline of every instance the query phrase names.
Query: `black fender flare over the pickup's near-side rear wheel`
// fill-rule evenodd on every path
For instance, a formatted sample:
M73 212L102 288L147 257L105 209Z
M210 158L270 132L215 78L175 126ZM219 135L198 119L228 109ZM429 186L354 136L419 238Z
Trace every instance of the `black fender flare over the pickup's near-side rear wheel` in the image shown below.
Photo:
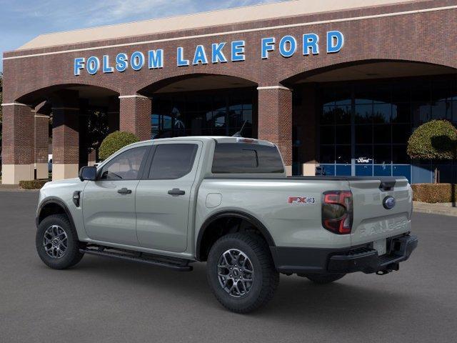
M247 213L241 212L241 211L231 211L231 210L221 211L221 212L217 212L217 213L211 215L211 217L207 218L200 227L199 236L197 237L197 242L196 242L196 259L198 261L201 261L201 252L200 252L201 251L201 249L200 249L201 240L204 237L206 229L208 229L210 224L212 224L214 221L224 218L224 217L236 217L239 219L246 220L246 222L253 224L253 226L256 227L258 229L258 231L260 231L261 234L263 235L263 237L266 239L268 246L276 247L276 244L274 244L274 240L273 240L273 237L271 237L270 232L268 232L268 229L266 229L265 225L263 225L262 222L259 221L256 217L253 217L253 216L251 216L251 214L247 214Z

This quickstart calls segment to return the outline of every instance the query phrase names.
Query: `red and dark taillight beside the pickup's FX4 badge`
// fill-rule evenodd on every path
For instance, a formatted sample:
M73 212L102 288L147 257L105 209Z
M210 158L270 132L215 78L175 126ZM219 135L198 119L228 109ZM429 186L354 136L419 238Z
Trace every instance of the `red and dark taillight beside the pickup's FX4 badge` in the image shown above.
M351 191L323 193L322 226L334 234L350 234L353 219Z

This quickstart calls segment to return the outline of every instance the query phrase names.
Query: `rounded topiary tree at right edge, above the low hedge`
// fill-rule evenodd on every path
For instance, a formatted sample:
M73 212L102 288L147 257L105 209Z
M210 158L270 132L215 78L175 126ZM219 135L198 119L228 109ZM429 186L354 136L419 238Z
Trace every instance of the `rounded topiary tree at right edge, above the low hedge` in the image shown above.
M431 120L419 126L408 139L411 159L456 159L457 129L447 120ZM435 169L435 183L438 169Z

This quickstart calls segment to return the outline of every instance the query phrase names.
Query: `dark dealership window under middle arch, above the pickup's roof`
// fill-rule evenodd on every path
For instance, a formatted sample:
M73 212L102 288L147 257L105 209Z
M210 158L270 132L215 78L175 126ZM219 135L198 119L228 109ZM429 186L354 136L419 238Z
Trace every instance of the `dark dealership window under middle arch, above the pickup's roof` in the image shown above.
M157 94L151 136L231 136L243 127L243 136L254 137L255 104L251 88Z

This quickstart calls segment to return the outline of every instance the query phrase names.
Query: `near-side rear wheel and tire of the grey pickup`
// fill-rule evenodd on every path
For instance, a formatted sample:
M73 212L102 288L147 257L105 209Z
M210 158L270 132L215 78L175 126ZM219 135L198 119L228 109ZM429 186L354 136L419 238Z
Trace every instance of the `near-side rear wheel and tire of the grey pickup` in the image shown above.
M224 267L219 267L221 265ZM233 274L229 274L230 265ZM220 274L227 276L221 277ZM237 275L238 281L235 282ZM265 305L273 298L279 283L279 273L268 245L256 234L246 233L227 234L214 243L206 264L206 276L216 299L236 313L248 313Z

